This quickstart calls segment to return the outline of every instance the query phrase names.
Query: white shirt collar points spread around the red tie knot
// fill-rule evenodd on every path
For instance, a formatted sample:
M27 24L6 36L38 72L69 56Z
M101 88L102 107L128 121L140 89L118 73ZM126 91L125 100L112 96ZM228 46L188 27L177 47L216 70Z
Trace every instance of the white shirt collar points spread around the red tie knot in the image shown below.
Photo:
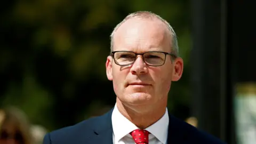
M121 140L125 135L129 134L131 131L139 129L136 125L130 122L126 117L124 117L115 105L112 113L112 126L115 139L117 141ZM167 134L169 126L169 116L166 108L165 114L161 119L159 119L153 125L150 125L145 130L153 134L159 141L166 143Z

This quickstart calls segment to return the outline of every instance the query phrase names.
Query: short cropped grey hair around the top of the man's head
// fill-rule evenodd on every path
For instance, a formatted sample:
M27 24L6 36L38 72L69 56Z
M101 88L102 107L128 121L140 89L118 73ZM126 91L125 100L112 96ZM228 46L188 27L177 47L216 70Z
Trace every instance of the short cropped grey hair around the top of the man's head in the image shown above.
M170 35L172 37L171 41L172 41L172 53L175 54L177 57L179 56L179 46L178 46L178 40L177 40L177 35L175 34L175 31L173 30L172 26L170 25L169 22L167 22L165 19L161 18L159 15L153 13L153 12L149 12L149 11L138 11L138 12L134 12L131 13L129 15L127 15L127 17L124 18L123 21L121 21L120 23L118 23L118 25L114 28L113 32L110 35L110 52L113 52L113 47L114 47L114 35L117 31L117 29L127 20L131 19L131 18L142 18L142 19L153 19L153 18L157 18L158 20L161 20L164 25L166 25L166 27L168 28Z

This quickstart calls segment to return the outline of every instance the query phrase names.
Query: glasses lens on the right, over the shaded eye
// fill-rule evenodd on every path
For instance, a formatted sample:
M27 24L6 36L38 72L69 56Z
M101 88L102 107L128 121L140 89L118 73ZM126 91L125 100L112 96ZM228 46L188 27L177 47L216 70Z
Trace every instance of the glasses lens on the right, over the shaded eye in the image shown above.
M147 52L143 55L145 62L151 66L161 66L165 61L165 54L162 52Z

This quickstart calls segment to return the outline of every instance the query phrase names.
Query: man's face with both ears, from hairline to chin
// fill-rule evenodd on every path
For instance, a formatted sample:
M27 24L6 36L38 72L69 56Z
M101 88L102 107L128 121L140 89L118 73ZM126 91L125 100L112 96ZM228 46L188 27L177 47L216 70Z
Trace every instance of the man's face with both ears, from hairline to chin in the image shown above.
M130 19L124 22L114 36L113 51L144 53L159 51L171 53L171 37L166 26L159 20ZM178 81L183 61L171 61L166 55L163 66L148 66L138 55L130 66L119 66L113 57L106 62L107 76L113 81L114 91L122 103L127 105L155 105L167 101L172 81Z

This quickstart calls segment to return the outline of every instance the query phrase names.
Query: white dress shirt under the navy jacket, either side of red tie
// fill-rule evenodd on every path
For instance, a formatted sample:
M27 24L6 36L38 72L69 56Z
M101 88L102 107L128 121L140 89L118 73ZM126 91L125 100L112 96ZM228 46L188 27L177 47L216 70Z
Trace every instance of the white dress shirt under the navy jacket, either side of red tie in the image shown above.
M124 117L115 105L112 113L113 143L114 144L134 144L130 132L139 129L136 125ZM166 108L165 114L156 123L150 125L145 130L150 134L148 136L149 144L166 144L169 126L169 116Z

